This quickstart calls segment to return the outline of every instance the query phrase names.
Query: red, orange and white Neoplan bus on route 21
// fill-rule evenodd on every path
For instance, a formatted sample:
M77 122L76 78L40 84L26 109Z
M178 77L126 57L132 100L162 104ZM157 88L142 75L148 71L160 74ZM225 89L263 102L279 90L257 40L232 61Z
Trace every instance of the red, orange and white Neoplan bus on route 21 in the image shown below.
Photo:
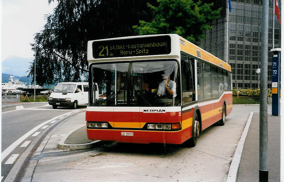
M177 34L88 41L87 59L90 140L194 147L232 111L230 65Z

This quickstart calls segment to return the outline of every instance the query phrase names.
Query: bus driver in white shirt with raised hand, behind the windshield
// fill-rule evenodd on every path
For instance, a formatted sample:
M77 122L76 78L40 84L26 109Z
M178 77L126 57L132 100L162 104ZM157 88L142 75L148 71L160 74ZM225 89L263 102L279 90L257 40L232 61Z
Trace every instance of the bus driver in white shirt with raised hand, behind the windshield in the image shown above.
M173 97L176 97L177 96L176 88L177 88L176 82L171 80L171 77L169 76L168 79L165 79L160 82L157 95L161 96L165 94L170 94L173 95Z

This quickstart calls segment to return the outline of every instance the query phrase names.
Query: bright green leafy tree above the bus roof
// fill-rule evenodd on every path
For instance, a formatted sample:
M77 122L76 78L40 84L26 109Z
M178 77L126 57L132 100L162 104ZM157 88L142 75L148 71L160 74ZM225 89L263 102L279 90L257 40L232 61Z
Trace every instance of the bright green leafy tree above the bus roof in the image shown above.
M140 20L133 29L139 35L178 34L192 43L205 38L204 30L211 28L208 22L220 18L221 8L212 10L213 3L192 0L158 0L156 7L148 3L153 11L153 20Z

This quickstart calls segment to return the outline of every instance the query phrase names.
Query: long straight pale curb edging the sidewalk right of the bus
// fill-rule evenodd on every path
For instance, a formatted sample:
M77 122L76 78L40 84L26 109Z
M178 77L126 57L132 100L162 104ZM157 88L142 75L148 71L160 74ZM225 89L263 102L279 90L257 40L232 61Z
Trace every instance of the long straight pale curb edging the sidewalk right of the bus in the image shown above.
M232 160L231 165L230 165L230 169L229 169L229 172L228 172L226 182L232 182L232 181L235 182L237 180L239 163L241 162L241 156L242 156L242 152L243 152L243 148L244 148L244 142L245 142L245 139L247 137L247 134L248 134L248 131L249 131L249 125L251 123L252 118L253 118L253 112L251 112L249 114L249 118L248 118L248 121L247 121L247 123L244 127L243 134L242 134L242 136L239 140L239 144L238 144L238 146L235 150L234 157L233 157L233 160Z

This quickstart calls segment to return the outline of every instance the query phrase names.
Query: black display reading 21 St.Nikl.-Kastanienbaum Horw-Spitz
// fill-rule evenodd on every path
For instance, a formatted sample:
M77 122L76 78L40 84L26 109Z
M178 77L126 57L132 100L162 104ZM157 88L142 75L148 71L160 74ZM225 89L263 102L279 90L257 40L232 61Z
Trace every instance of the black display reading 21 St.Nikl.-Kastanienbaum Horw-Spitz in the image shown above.
M94 58L147 56L169 54L171 38L168 35L95 41L92 44Z

